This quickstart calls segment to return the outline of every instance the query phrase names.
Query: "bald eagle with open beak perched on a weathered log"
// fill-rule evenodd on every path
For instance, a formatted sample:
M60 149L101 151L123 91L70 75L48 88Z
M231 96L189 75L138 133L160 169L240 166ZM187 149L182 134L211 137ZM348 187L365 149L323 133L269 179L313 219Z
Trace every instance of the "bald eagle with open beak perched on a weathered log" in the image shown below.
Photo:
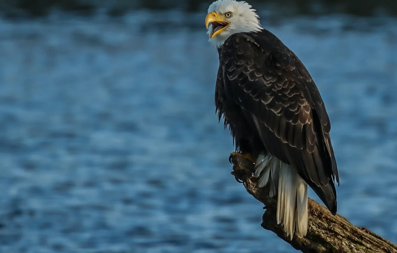
M277 197L277 222L291 240L307 232L307 186L337 211L331 124L316 84L301 60L246 2L218 0L205 19L219 54L215 106L236 152L255 163L260 187Z

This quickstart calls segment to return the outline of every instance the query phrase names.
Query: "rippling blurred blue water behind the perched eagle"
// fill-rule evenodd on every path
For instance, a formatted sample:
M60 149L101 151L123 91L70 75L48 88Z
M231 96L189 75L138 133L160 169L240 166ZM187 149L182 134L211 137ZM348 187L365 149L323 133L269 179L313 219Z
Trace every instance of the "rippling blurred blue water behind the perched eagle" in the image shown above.
M229 173L202 17L174 14L0 21L1 252L295 252ZM397 20L262 23L326 102L338 212L396 243Z

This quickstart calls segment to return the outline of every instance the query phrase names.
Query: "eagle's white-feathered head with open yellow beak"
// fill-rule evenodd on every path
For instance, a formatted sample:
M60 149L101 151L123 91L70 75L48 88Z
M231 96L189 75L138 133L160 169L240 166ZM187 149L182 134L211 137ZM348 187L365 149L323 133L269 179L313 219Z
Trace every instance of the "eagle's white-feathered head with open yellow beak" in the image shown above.
M209 41L220 47L233 33L260 31L258 14L247 2L235 0L218 0L208 8L205 25Z

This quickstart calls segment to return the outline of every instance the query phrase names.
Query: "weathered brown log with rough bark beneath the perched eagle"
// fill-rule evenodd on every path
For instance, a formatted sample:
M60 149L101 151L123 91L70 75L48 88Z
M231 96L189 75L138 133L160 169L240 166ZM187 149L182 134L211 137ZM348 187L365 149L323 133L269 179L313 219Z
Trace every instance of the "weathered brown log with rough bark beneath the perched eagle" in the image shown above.
M303 238L289 240L276 222L276 199L268 197L269 189L258 188L252 162L234 155L233 174L249 194L266 206L261 226L270 230L292 247L304 253L397 253L397 246L366 228L354 226L341 215L333 216L323 205L308 199L308 230Z

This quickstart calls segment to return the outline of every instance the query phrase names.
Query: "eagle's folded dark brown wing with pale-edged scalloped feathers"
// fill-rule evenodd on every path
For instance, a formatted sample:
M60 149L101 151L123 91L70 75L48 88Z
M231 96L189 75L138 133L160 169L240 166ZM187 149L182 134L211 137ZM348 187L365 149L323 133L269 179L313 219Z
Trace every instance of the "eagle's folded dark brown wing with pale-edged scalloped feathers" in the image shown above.
M231 35L219 50L227 97L252 117L267 151L295 169L336 213L330 119L297 56L267 30Z

